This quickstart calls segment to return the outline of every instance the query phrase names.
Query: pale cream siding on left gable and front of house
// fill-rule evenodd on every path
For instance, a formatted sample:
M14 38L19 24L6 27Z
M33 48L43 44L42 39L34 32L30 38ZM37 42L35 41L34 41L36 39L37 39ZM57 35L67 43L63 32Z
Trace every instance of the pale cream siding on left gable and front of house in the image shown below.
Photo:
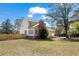
M20 28L18 29L20 34L26 34L27 36L37 36L35 35L34 27L28 28L29 22L27 20L23 20Z

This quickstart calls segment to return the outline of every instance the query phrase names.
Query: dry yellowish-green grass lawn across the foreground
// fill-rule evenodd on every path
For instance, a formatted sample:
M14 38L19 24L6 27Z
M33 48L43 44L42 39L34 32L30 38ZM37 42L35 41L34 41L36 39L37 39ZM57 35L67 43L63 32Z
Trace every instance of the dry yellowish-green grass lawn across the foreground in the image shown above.
M4 56L63 56L79 55L79 42L6 40L0 41L0 55Z

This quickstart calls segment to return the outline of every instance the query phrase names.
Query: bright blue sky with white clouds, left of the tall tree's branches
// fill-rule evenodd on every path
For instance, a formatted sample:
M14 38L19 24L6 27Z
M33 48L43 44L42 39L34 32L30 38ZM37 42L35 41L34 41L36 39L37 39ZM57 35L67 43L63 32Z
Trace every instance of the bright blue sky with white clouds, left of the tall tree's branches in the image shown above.
M47 3L0 3L0 23L7 18L12 23L21 17L32 18L33 20L46 19L45 14L48 11Z

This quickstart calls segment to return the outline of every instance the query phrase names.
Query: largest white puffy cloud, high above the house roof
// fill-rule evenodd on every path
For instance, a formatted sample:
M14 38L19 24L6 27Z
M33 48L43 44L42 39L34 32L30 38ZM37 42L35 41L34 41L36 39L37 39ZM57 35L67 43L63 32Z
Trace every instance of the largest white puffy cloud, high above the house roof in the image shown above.
M46 14L47 13L47 9L46 8L42 8L42 7L31 7L29 8L29 13L30 14Z

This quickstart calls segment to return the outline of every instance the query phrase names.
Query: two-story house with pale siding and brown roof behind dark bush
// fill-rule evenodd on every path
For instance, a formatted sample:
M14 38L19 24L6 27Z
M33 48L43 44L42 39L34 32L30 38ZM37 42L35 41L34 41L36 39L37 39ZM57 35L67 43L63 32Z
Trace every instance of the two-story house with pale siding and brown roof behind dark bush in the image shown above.
M19 34L26 34L29 38L37 38L39 30L44 27L46 27L44 21L23 20L18 28L18 32Z

